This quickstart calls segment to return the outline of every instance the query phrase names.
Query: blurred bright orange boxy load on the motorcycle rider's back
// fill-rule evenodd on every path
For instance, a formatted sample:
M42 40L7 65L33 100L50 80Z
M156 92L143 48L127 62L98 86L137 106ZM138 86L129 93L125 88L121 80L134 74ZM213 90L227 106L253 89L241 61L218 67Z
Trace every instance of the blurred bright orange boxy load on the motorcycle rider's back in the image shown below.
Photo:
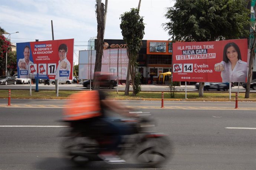
M98 91L81 91L70 95L64 108L64 120L82 120L101 116Z

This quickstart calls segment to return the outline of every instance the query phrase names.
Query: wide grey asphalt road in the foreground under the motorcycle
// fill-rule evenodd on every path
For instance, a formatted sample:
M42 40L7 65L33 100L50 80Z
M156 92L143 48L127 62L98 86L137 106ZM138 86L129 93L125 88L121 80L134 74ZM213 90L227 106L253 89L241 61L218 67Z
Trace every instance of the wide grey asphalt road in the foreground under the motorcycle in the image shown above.
M240 102L239 109L234 109L234 102L170 101L164 108L158 101L118 102L151 112L157 131L172 140L173 159L152 170L255 170L255 102ZM78 168L63 158L59 145L65 127L57 120L65 100L13 99L12 106L6 104L0 99L1 170L141 169L104 162Z

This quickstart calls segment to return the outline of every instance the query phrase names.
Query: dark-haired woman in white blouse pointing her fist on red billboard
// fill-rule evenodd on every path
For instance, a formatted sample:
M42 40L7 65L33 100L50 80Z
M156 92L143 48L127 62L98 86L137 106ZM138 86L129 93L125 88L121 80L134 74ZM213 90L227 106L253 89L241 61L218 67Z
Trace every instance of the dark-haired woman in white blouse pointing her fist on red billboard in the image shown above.
M236 43L228 43L223 50L223 61L214 65L215 71L221 71L222 82L245 82L247 62L242 61L241 52Z

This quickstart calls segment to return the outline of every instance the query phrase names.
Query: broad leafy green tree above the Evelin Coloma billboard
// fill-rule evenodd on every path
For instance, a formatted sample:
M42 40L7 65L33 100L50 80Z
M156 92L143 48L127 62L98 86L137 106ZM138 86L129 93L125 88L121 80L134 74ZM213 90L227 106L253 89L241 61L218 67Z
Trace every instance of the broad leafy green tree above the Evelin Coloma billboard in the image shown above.
M218 41L249 35L247 0L176 0L164 23L173 41ZM200 82L199 96L203 96Z

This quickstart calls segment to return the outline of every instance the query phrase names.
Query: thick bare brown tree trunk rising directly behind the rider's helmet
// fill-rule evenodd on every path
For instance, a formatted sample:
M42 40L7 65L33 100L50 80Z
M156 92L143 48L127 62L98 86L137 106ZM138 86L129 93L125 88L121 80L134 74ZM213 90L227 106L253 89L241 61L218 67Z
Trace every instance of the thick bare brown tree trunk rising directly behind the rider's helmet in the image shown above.
M104 4L101 0L96 0L96 16L97 16L97 44L96 44L96 59L94 72L101 71L102 55L103 55L103 45L104 45L104 31L105 31L105 17L106 10ZM108 0L105 1L107 6ZM93 78L95 79L95 78ZM96 80L95 80L96 81ZM98 83L93 83L93 89L99 89Z

